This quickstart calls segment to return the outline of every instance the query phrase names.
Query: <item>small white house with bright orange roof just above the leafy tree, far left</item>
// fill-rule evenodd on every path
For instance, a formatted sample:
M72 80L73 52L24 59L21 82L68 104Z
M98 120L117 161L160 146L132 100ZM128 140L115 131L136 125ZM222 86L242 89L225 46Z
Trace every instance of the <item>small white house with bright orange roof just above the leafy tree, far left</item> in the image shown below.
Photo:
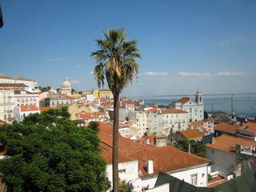
M30 105L30 106L16 106L14 107L14 119L17 122L22 122L22 120L29 114L40 114L40 110L38 106Z

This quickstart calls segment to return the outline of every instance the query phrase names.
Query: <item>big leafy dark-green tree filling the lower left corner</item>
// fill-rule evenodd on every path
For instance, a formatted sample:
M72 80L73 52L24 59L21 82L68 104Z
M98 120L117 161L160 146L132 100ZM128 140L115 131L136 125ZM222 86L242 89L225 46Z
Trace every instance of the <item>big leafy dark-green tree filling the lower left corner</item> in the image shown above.
M107 189L106 162L96 131L68 119L66 109L27 116L0 127L7 191L84 192Z

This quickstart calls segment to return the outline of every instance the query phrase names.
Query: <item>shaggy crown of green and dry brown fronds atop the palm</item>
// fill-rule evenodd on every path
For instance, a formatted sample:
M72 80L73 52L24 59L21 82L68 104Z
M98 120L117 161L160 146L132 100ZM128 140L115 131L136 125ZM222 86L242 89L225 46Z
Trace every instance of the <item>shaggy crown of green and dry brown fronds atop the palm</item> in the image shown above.
M98 63L94 68L94 75L98 86L103 86L105 79L114 95L133 81L138 74L138 63L135 58L140 58L137 41L126 42L126 32L123 29L111 29L104 32L105 39L95 39L99 50L92 52Z

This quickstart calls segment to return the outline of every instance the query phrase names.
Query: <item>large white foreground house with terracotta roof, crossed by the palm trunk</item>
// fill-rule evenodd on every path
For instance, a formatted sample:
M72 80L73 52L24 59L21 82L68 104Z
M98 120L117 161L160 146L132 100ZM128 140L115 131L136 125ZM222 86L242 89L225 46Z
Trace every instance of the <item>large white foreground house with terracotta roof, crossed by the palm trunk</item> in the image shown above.
M99 137L101 155L107 163L106 175L112 183L112 127L100 123ZM121 136L118 140L118 176L122 182L130 184L131 191L153 188L160 171L194 186L207 186L208 159L172 146L156 148Z

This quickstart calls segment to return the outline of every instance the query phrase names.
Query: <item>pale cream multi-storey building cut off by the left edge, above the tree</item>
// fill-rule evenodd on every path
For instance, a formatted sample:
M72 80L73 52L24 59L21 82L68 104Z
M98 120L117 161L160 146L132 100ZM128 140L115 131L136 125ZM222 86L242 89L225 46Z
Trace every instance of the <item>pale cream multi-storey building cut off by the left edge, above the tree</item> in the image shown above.
M0 120L12 122L14 110L14 90L0 88Z

